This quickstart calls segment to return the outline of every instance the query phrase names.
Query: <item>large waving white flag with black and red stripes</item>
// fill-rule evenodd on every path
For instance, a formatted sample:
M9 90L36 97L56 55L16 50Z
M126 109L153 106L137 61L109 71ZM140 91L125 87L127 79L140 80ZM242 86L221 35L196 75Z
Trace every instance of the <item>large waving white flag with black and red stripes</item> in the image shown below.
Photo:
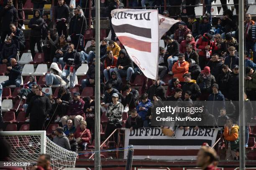
M159 58L159 25L161 32L172 25L157 10L115 9L111 11L112 27L131 60L138 65L143 74L156 80ZM175 20L174 20L175 21ZM169 23L169 26L167 26ZM165 31L165 32L166 32ZM165 33L164 32L164 33ZM163 33L163 34L164 34Z

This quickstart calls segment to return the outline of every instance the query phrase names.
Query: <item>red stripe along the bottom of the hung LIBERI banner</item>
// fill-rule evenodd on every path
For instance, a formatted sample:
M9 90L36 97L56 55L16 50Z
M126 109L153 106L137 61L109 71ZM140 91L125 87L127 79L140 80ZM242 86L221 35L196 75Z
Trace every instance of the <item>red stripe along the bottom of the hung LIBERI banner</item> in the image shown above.
M161 150L161 149L135 149L134 156L196 156L199 150Z

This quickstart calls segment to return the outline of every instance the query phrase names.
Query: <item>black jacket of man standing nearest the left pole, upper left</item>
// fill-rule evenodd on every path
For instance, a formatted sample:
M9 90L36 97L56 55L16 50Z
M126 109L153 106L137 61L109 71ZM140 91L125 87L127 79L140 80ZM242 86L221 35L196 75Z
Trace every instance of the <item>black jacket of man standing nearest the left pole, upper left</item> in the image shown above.
M79 14L78 16L74 15L74 17L71 18L69 23L69 35L72 35L72 34L84 35L86 28L87 28L87 21L84 15L81 15L81 14Z

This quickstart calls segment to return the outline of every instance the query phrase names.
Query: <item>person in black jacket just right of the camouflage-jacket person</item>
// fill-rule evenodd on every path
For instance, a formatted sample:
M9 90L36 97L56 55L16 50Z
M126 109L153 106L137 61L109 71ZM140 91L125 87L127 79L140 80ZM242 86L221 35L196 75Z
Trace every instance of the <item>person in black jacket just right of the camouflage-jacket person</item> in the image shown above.
M123 105L129 107L129 110L136 108L136 104L139 99L139 92L131 87L131 85L126 85L123 89L125 91L125 100Z

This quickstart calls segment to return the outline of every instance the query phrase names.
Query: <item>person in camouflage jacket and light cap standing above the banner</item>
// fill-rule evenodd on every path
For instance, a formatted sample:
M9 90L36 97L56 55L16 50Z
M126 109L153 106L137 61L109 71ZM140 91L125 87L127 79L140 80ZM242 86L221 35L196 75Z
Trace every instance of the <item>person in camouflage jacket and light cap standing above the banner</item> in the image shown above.
M116 129L122 127L122 114L123 114L123 105L118 102L118 94L113 93L112 102L108 105L106 116L108 117L108 125L105 132L105 138ZM115 133L115 140L117 140L118 133Z

